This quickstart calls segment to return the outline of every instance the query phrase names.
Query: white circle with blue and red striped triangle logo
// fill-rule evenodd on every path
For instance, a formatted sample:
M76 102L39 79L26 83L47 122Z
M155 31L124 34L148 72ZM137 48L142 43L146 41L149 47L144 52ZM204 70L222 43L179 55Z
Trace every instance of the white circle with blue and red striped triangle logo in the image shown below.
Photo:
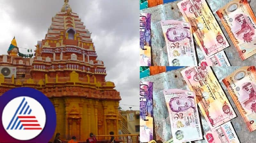
M35 138L44 129L45 112L42 105L28 96L12 99L5 107L2 122L5 131L15 139Z

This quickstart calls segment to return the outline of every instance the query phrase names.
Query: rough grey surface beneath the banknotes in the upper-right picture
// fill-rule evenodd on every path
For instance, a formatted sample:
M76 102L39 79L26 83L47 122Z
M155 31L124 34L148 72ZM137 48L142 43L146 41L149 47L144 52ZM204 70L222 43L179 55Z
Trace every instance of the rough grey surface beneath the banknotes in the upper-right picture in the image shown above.
M167 49L166 44L164 40L164 35L162 31L162 27L160 25L161 20L180 20L185 21L184 17L182 16L177 3L179 3L181 0L167 3L167 4L161 4L155 7L151 7L148 9L140 10L141 13L151 13L151 45L152 45L152 51L151 51L151 65L152 66L168 66L168 57L167 57ZM228 43L230 47L224 49L226 52L226 55L228 57L228 60L231 64L231 66L248 66L248 65L255 65L256 61L256 55L253 55L249 57L248 59L242 61L240 56L237 53L237 50L235 46L233 45L232 41L229 38L229 35L222 25L220 18L217 16L216 11L218 11L221 7L226 5L232 0L206 0L208 2L208 5L210 9L212 10L215 18L217 19L220 28L222 29L223 33L225 34ZM252 10L255 14L255 8L256 8L256 0L252 0L250 2L250 5L252 7ZM197 52L197 62L204 59L204 55L199 48L198 44L194 40L195 46L196 46L196 52Z

